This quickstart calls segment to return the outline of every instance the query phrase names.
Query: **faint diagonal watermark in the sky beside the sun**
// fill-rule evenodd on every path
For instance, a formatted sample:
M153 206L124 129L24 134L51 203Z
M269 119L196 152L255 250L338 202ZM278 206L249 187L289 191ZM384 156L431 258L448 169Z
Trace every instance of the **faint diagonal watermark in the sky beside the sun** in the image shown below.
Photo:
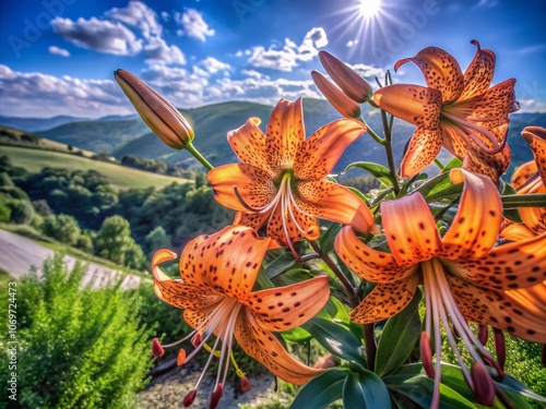
M406 44L425 28L430 17L439 12L440 7L436 0L425 0L420 9L405 11L400 23L394 28L387 28L383 33L384 47L372 47L375 60L381 65L387 65L393 56L400 55Z

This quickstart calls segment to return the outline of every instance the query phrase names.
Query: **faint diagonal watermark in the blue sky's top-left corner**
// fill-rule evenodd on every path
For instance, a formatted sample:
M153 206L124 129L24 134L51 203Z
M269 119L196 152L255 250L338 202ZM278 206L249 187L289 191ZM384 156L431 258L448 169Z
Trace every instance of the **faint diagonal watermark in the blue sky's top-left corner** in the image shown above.
M8 43L16 58L21 57L21 51L29 48L37 41L45 29L51 26L51 20L61 16L67 5L72 5L78 0L43 0L40 2L44 11L36 14L34 19L23 19L23 35L10 35Z

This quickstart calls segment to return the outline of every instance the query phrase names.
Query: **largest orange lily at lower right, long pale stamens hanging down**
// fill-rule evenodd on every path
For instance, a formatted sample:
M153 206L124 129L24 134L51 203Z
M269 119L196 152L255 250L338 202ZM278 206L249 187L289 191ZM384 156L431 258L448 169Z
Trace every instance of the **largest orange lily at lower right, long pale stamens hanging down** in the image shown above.
M425 199L414 193L381 204L391 253L370 249L351 227L342 229L335 241L336 253L351 269L378 282L351 312L354 322L373 323L391 317L406 306L417 286L424 284L424 363L431 362L426 357L427 339L435 339L437 354L436 372L431 365L427 371L435 374L431 407L439 404L441 323L475 394L479 390L459 354L451 325L467 346L478 365L475 368L488 362L497 372L501 372L500 366L473 335L466 320L492 325L530 341L546 341L546 311L542 308L546 300L541 300L541 294L518 299L518 294L506 291L529 288L545 279L546 234L494 248L502 220L496 185L488 178L463 169L451 170L450 177L453 183L465 183L458 214L443 238Z

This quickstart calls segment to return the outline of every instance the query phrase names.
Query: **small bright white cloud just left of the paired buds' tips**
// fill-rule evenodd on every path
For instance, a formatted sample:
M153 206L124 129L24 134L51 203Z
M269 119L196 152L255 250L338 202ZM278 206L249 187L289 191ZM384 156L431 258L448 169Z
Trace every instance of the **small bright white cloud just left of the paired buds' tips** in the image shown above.
M328 45L327 33L322 27L309 31L298 46L289 38L285 38L284 46L273 45L269 49L263 46L252 47L248 62L252 67L269 68L281 71L292 71L302 61L310 61L319 53L319 48ZM249 50L246 50L247 53Z

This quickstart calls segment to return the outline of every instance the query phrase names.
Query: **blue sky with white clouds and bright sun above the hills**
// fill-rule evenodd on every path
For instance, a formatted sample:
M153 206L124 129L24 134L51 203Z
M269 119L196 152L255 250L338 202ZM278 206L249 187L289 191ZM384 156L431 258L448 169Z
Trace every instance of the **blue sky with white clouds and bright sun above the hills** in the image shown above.
M177 107L320 97L318 51L370 82L438 46L464 70L497 55L494 83L515 77L523 111L546 111L544 0L17 0L0 3L0 115L133 113L112 72L141 76ZM322 70L323 71L323 70ZM411 64L396 82L423 83Z

